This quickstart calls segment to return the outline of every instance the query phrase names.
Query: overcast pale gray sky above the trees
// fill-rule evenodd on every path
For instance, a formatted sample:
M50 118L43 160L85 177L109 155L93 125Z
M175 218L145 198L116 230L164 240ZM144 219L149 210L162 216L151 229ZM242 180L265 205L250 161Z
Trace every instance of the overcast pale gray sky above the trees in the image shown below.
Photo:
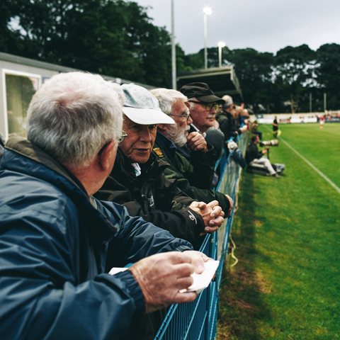
M152 6L154 25L171 33L171 0L134 0ZM232 50L252 47L276 53L283 47L340 45L340 0L174 0L175 35L183 50L204 47L203 8L210 6L208 47L219 41Z

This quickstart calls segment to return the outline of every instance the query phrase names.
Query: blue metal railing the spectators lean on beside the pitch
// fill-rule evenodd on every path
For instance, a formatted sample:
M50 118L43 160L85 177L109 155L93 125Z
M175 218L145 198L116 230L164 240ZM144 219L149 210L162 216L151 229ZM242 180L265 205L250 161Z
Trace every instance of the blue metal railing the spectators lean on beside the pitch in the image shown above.
M247 133L237 140L239 149L244 153ZM220 181L216 191L232 197L235 202L241 168L232 157L223 154L217 164ZM222 280L223 262L227 259L229 234L232 229L234 209L229 219L226 219L218 232L208 234L200 251L212 259L220 260L215 281L203 290L195 301L183 305L171 305L162 326L154 340L212 340L215 339L217 327L218 296Z

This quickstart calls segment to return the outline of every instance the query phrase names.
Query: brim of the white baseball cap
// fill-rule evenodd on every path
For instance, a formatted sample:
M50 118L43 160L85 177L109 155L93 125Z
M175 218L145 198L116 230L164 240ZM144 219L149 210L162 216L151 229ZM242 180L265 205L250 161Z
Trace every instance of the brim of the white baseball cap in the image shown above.
M123 107L123 113L137 124L153 125L153 124L174 124L175 121L162 111L153 110L152 108L129 108Z

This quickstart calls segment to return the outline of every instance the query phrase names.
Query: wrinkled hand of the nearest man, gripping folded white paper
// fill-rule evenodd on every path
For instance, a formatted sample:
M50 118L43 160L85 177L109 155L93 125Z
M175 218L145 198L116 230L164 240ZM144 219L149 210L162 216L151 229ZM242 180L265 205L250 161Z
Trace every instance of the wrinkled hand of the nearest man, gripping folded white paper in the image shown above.
M194 253L194 254L193 254ZM161 310L173 303L191 302L196 293L179 293L193 284L191 274L202 273L208 256L199 251L171 251L142 259L128 268L145 297L145 312Z

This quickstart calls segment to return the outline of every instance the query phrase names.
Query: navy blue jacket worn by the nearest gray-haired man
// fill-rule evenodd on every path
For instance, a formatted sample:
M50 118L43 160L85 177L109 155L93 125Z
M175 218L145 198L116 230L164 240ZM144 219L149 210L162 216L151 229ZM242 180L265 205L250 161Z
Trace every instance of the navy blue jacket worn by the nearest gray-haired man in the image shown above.
M21 137L6 144L0 193L1 340L119 339L145 300L132 273L110 276L106 261L191 249L121 205L91 204L75 176Z

